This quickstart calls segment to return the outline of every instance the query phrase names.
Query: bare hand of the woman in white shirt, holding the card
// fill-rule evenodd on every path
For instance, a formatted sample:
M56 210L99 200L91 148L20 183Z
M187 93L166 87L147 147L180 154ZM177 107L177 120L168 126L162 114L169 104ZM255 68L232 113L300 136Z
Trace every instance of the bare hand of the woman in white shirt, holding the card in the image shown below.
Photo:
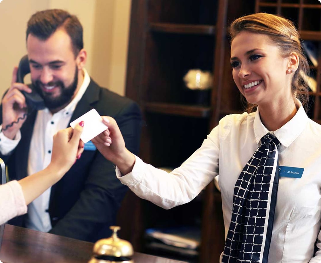
M107 160L116 164L123 174L127 174L133 169L135 156L126 149L124 138L115 119L107 116L101 118L108 129L91 141Z

